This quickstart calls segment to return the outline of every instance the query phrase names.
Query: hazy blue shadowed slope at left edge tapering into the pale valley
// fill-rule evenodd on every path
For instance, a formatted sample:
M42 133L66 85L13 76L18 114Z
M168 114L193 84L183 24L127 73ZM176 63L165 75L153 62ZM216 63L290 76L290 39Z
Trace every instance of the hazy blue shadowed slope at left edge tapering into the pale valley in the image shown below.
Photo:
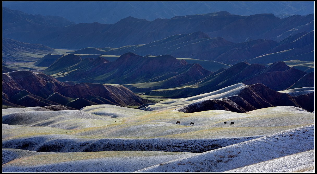
M56 51L41 44L29 44L13 39L2 39L2 61L36 61L49 53Z

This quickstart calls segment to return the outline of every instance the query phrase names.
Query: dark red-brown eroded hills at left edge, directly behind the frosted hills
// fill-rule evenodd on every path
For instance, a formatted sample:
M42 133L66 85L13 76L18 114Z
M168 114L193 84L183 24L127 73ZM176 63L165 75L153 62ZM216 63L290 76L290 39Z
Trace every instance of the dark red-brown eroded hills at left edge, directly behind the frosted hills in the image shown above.
M3 99L21 106L64 105L81 109L94 104L139 106L150 103L117 84L67 86L51 76L31 71L13 71L2 76Z

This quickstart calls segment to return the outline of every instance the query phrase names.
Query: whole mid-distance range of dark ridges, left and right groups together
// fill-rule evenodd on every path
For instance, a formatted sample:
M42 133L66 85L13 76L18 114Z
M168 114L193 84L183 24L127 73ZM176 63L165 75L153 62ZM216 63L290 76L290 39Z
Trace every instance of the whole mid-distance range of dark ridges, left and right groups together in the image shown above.
M171 55L143 57L134 53L125 53L113 62L102 57L81 59L70 53L43 73L62 82L123 84L136 93L164 97L195 96L237 83L261 83L273 90L286 90L307 74L280 61L268 67L240 62L211 72Z

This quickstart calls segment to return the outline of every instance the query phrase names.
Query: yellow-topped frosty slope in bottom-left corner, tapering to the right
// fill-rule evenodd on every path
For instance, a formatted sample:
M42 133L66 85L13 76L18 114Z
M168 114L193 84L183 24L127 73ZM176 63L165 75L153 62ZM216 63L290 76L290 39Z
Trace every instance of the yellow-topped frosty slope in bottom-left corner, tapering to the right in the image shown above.
M156 151L50 153L3 149L3 159L6 163L3 165L3 171L133 172L154 164L190 157L195 154Z

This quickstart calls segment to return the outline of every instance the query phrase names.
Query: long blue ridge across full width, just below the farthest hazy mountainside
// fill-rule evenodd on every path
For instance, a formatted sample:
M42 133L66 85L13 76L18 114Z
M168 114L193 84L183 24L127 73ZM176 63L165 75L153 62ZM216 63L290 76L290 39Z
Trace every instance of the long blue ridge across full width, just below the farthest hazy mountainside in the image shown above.
M220 11L153 21L130 16L114 24L79 23L63 28L35 23L16 30L10 27L9 22L5 23L8 31L4 31L3 36L49 47L78 49L147 44L172 35L197 31L211 38L222 37L230 42L243 42L250 39L283 40L289 35L311 32L314 30L313 21L314 15L293 15L281 19L273 14L240 16ZM39 29L39 26L43 27Z

